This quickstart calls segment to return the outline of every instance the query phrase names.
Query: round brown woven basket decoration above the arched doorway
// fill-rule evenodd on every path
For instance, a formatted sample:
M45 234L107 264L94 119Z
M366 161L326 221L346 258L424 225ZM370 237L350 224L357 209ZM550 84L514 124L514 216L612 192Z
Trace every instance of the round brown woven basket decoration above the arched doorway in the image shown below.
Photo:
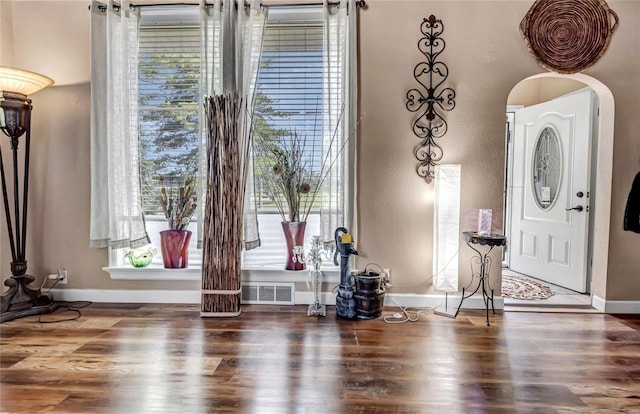
M542 67L576 73L600 59L617 26L604 0L536 0L520 33Z

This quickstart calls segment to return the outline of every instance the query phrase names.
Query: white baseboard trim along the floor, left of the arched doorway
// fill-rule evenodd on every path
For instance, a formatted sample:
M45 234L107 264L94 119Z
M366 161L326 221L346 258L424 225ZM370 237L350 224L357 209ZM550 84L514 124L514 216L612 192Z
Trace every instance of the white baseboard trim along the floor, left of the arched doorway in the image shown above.
M65 302L106 302L106 303L184 303L199 304L199 290L112 290L112 289L52 289L51 293L57 301ZM296 291L294 296L296 305L309 305L313 303L313 292ZM385 306L407 306L413 308L436 308L445 301L444 295L434 294L400 294L387 293ZM320 302L324 305L334 306L336 294L322 292ZM457 308L460 303L460 294L449 295L448 307ZM504 309L502 297L494 298L496 309ZM462 309L485 309L481 296L472 296L464 300Z

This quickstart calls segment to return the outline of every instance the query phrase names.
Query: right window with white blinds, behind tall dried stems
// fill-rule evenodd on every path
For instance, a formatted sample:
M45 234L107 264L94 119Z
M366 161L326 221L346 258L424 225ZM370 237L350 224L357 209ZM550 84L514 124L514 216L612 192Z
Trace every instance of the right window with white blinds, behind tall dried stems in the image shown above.
M307 168L320 171L322 154L323 110L323 21L321 10L270 10L265 26L261 64L255 96L256 137L286 141L294 134L303 141ZM264 124L262 124L264 123ZM256 154L259 157L259 154ZM243 266L282 268L286 246L278 214L270 198L273 194L263 182L269 166L255 164L255 187L258 199L261 247L244 252ZM307 218L305 240L319 234L317 209Z

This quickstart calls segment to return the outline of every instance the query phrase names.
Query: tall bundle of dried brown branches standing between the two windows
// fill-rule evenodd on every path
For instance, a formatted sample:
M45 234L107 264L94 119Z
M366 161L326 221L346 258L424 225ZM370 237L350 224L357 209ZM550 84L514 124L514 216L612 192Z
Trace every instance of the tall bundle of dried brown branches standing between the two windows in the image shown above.
M202 316L240 314L242 223L251 136L240 133L243 110L237 95L216 95L205 102Z

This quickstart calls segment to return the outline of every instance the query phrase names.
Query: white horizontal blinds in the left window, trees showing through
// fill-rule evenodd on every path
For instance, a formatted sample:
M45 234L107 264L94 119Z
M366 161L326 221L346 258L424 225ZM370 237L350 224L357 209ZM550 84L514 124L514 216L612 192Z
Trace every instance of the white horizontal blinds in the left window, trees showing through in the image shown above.
M200 28L197 22L143 24L139 34L139 129L146 214L160 214L158 177L179 186L197 173Z

